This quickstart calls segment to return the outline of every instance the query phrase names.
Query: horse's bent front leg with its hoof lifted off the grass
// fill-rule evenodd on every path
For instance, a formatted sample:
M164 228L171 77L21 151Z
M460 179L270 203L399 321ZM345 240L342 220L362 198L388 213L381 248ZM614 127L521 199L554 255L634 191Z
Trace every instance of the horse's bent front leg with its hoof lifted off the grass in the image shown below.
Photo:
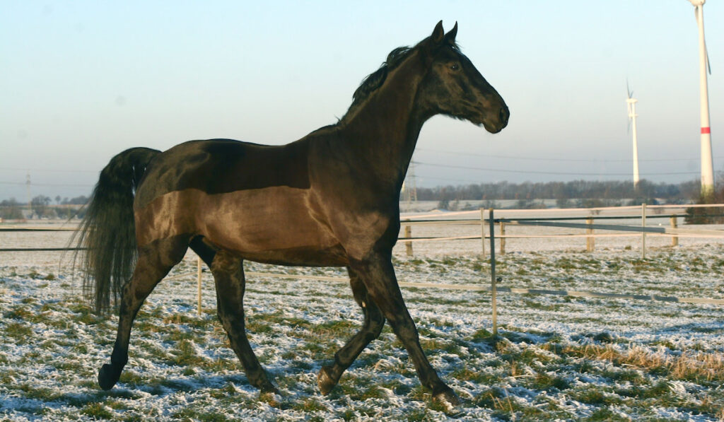
M334 365L323 366L319 371L317 385L322 394L332 391L337 382L340 381L342 373L352 365L357 356L364 350L369 342L379 337L384 326L384 316L377 305L369 297L367 287L359 277L359 274L348 268L350 274L350 286L355 301L362 308L364 323L362 329L352 337L337 353L334 353Z

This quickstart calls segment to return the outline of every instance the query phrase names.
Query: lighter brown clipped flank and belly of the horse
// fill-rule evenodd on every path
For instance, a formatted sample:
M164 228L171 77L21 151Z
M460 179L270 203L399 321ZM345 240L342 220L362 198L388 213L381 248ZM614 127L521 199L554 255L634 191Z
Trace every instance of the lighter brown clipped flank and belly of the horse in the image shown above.
M139 245L201 235L215 248L266 263L344 266L340 241L311 208L309 190L286 186L209 195L178 190L136 210Z

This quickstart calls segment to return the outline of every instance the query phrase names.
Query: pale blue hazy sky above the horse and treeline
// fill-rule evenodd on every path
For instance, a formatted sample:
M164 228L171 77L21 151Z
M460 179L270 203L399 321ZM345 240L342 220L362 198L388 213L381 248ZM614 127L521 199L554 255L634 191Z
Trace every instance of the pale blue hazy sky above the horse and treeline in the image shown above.
M0 3L0 200L88 195L133 146L280 144L329 125L397 46L458 22L510 106L491 135L436 117L418 185L699 177L694 7L647 1L28 1ZM704 6L715 171L724 166L724 6ZM433 166L431 164L436 164ZM450 166L475 167L460 169ZM487 170L480 170L487 169Z

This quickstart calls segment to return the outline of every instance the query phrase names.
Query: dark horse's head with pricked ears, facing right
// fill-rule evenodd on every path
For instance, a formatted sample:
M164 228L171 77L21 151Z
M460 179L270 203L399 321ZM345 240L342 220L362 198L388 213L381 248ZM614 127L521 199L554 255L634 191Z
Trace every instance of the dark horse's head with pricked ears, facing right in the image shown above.
M429 72L420 85L418 101L432 114L445 114L500 132L508 125L510 111L502 97L455 44L458 24L449 33L438 22L432 35L418 46Z

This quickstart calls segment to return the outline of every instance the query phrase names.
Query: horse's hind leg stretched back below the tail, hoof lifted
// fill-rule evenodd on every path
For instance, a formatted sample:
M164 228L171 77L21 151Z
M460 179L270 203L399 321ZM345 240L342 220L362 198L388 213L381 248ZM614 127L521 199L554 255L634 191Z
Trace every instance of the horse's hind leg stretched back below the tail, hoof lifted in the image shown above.
M118 311L118 333L111 354L111 363L106 363L98 372L98 384L102 389L111 389L121 376L128 361L128 342L131 326L138 309L161 279L179 263L188 246L188 239L171 237L157 240L138 250L138 261L133 276L123 287Z

